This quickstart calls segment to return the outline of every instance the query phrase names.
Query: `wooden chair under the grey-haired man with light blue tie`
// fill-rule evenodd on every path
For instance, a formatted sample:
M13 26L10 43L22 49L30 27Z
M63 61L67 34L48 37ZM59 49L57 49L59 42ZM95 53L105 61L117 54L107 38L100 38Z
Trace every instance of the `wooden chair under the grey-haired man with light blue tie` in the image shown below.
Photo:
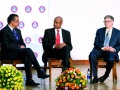
M97 69L98 68L106 68L106 62L103 58L99 58L97 60ZM91 70L91 78L92 78L92 69ZM113 77L113 83L117 82L117 70L116 70L116 61L114 61L114 65L112 67L112 77Z

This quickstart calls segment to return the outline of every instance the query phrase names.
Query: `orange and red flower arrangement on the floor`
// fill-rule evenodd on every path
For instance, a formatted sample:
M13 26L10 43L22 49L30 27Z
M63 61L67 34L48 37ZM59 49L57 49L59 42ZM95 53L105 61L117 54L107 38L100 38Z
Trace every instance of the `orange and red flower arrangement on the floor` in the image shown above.
M55 79L57 90L81 90L86 87L86 76L77 68L65 70Z

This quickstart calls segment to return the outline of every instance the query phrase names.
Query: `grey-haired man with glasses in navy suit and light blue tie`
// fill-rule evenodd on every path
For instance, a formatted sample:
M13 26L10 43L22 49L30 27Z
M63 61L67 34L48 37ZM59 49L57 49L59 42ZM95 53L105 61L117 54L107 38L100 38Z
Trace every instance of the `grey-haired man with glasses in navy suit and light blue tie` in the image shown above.
M120 50L120 31L113 27L114 18L111 15L104 17L105 27L96 32L94 48L90 52L89 61L92 68L93 80L91 83L104 82L113 67L114 60L119 61L118 52ZM105 74L98 78L97 59L103 57L107 62Z

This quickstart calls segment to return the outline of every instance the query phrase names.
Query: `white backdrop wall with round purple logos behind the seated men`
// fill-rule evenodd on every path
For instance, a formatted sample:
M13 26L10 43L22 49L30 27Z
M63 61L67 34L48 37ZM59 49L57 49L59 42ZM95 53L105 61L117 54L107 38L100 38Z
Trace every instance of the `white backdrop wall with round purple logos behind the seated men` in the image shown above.
M42 63L41 37L53 27L56 16L63 17L62 28L71 32L73 60L88 60L98 28L104 27L105 15L113 15L114 27L120 29L119 0L1 0L0 29L11 13L19 15L24 41Z

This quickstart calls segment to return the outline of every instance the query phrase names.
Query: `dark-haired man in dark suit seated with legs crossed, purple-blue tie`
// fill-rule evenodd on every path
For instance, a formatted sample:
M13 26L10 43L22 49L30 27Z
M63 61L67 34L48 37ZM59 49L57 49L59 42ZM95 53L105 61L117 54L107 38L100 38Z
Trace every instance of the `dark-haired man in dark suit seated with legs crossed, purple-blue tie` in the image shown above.
M32 80L31 63L37 70L38 78L47 78L49 75L41 71L40 65L30 48L26 48L21 35L21 31L17 28L19 25L19 17L17 14L10 14L7 19L8 25L1 30L1 52L2 58L8 60L21 59L25 65L26 85L39 85Z

